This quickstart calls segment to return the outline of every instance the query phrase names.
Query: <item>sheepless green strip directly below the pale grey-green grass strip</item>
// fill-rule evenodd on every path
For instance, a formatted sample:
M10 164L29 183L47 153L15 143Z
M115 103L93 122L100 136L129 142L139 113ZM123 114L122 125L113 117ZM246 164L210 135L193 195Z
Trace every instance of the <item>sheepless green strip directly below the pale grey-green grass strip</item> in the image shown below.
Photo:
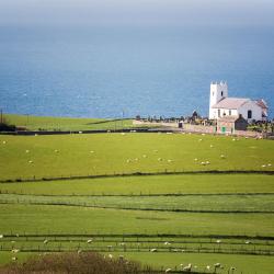
M1 205L0 233L190 233L274 236L273 214L183 214ZM81 225L79 225L81 224ZM258 225L260 224L260 226Z

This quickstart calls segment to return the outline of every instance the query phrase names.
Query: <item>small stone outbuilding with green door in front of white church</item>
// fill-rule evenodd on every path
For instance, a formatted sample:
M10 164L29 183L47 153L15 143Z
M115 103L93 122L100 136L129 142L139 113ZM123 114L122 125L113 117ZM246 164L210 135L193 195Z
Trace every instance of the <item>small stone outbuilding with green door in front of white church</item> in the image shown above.
M241 115L237 116L224 116L217 119L217 133L220 134L235 134L236 130L247 130L248 121Z

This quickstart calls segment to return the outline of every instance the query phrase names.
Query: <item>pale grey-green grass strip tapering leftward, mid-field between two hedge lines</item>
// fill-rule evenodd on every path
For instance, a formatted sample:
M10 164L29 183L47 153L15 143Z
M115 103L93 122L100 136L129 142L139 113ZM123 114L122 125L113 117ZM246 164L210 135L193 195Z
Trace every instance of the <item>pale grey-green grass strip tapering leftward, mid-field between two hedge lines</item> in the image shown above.
M191 210L273 213L273 195L191 195L191 196L37 196L1 194L0 203L67 204L138 210Z

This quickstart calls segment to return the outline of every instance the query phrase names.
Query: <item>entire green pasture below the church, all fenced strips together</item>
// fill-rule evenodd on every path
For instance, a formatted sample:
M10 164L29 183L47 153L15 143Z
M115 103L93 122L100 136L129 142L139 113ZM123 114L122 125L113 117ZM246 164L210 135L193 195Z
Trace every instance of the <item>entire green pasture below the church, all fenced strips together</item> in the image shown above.
M218 273L233 266L235 274L272 274L271 171L274 142L269 140L0 135L0 263L11 260L12 249L20 250L20 260L81 249L163 270L192 263L203 272L219 262Z

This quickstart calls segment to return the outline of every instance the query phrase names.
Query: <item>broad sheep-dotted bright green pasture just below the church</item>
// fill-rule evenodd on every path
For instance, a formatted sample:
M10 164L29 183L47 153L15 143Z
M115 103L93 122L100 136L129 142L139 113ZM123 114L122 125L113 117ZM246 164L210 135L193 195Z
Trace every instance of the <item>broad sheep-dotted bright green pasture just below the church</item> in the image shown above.
M274 142L267 140L233 141L230 137L182 134L94 134L0 136L0 180L140 171L274 170ZM210 164L202 165L205 161Z

